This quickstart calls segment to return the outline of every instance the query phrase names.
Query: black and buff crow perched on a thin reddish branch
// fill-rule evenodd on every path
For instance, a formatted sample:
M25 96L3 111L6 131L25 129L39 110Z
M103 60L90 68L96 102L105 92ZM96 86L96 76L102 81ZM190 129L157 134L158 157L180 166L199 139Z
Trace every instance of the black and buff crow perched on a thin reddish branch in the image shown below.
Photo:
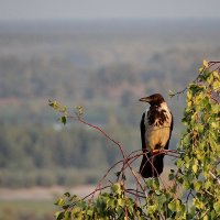
M154 178L163 172L164 153L154 155L153 152L168 150L173 131L173 114L161 94L153 94L139 100L150 103L140 123L143 151L140 174L143 178Z

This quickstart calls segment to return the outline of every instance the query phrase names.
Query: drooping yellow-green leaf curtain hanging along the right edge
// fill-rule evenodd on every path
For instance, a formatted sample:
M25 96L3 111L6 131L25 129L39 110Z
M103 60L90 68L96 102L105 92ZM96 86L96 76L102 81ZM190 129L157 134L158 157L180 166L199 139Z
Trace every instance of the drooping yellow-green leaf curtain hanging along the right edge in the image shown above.
M219 65L219 64L218 64ZM189 218L218 219L220 215L220 75L216 62L204 61L199 76L188 86L177 183L193 197ZM190 146L190 147L189 147Z

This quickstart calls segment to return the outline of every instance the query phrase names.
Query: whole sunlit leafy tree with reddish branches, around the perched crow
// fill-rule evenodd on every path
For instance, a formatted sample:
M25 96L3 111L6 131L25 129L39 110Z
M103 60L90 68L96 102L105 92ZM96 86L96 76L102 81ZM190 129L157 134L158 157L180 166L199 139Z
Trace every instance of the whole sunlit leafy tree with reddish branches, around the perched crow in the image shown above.
M220 169L219 169L219 92L220 62L204 61L198 77L183 91L187 91L183 123L186 131L176 151L163 151L176 158L176 170L170 169L167 187L162 178L142 179L132 167L140 151L128 156L123 146L99 127L86 122L81 111L75 116L57 102L50 106L62 113L61 121L68 119L101 132L121 152L121 161L103 175L95 191L85 198L66 193L56 202L61 210L56 219L219 219L220 218ZM78 108L81 109L81 108ZM161 152L155 152L161 153ZM103 185L108 174L121 165L116 179ZM135 180L134 188L127 185L130 172Z

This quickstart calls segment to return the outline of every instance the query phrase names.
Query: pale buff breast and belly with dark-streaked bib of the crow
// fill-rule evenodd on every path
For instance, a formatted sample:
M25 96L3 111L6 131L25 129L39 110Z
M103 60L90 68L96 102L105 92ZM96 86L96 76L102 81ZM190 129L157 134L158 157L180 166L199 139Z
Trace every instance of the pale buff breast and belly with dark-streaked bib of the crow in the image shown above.
M144 124L146 148L163 148L169 140L172 125L172 113L166 102L146 110Z

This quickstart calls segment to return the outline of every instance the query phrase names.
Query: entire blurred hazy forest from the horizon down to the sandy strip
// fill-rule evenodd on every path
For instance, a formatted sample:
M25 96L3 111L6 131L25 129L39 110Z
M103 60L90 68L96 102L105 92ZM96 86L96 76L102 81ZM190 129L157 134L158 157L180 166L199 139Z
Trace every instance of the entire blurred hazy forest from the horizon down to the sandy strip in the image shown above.
M220 61L219 21L0 23L0 186L95 184L120 158L117 147L47 106L84 106L127 152L141 148L138 100L161 92L183 130L184 97L204 58ZM167 162L170 164L170 162Z

